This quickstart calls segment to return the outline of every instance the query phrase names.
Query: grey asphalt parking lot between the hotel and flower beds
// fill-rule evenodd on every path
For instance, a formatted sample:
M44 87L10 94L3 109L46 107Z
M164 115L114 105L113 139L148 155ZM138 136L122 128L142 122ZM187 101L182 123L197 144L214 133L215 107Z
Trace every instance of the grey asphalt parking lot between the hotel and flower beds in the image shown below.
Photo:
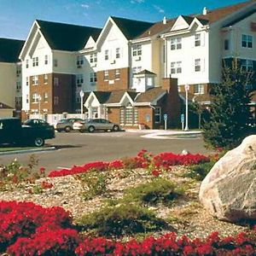
M47 171L83 165L95 160L115 160L125 156L134 156L142 148L153 154L160 152L181 153L185 148L190 153L207 154L201 137L183 139L166 139L142 137L139 132L60 132L54 139L47 140L49 146L56 150L37 153L0 155L0 165L9 164L17 159L27 165L32 154L39 160L38 167L44 166ZM47 146L46 145L46 146Z

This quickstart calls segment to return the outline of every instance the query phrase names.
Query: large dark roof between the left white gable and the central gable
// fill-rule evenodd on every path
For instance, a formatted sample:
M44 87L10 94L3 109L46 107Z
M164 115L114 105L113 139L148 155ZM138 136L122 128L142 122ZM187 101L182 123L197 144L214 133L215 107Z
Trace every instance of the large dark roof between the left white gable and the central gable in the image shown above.
M36 20L51 49L76 51L83 49L87 40L98 38L102 29L45 20Z

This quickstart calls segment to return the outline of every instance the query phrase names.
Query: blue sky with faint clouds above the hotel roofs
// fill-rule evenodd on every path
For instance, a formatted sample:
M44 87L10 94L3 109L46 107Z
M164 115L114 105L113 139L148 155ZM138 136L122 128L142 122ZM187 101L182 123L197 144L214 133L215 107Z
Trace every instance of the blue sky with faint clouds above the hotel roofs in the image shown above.
M26 39L33 20L104 26L109 15L159 21L244 0L0 0L0 38Z

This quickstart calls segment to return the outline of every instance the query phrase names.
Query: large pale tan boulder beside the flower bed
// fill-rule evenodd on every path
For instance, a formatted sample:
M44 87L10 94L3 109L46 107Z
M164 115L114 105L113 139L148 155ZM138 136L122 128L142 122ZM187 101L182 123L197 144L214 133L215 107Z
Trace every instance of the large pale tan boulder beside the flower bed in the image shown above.
M218 219L256 220L256 135L218 160L201 183L199 197Z

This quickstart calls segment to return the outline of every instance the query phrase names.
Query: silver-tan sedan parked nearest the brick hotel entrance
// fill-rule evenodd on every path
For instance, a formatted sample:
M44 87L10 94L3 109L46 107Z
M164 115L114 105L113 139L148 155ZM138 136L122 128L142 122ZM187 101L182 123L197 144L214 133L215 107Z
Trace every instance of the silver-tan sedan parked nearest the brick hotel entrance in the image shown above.
M84 121L74 122L73 130L84 131L119 131L119 125L114 124L107 119L86 119Z

